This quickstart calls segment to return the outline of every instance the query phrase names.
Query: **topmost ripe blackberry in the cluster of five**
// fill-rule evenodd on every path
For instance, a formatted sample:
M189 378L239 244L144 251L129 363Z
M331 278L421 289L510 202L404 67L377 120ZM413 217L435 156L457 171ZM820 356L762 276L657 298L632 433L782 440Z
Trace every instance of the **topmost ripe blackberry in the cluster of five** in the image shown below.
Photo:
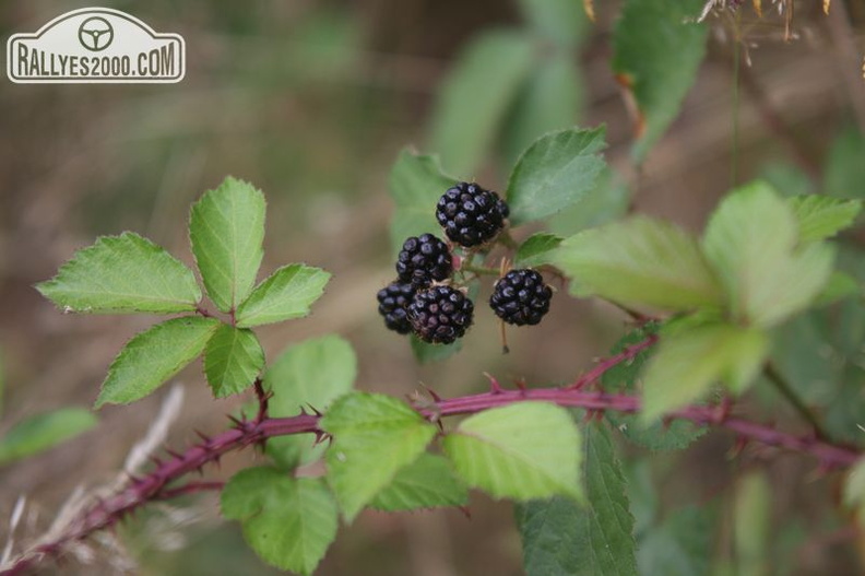
M436 205L436 220L445 234L466 248L495 238L508 214L508 204L496 192L469 183L450 188Z

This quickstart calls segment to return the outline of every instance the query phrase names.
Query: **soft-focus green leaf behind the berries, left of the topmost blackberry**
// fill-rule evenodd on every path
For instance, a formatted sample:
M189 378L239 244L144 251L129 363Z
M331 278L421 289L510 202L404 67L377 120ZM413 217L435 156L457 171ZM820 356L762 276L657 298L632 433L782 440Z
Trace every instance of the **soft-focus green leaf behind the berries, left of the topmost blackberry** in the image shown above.
M396 204L391 220L391 247L399 254L405 238L440 230L436 202L457 183L441 171L437 156L400 152L390 173L390 192Z

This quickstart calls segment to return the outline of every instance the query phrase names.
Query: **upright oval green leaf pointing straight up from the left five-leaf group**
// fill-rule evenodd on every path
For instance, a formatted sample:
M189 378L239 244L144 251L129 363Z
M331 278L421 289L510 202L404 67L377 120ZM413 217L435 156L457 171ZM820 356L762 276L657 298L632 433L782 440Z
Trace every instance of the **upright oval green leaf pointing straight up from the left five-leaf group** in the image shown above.
M208 296L224 313L237 309L256 283L264 256L264 195L232 177L192 204L192 252Z

